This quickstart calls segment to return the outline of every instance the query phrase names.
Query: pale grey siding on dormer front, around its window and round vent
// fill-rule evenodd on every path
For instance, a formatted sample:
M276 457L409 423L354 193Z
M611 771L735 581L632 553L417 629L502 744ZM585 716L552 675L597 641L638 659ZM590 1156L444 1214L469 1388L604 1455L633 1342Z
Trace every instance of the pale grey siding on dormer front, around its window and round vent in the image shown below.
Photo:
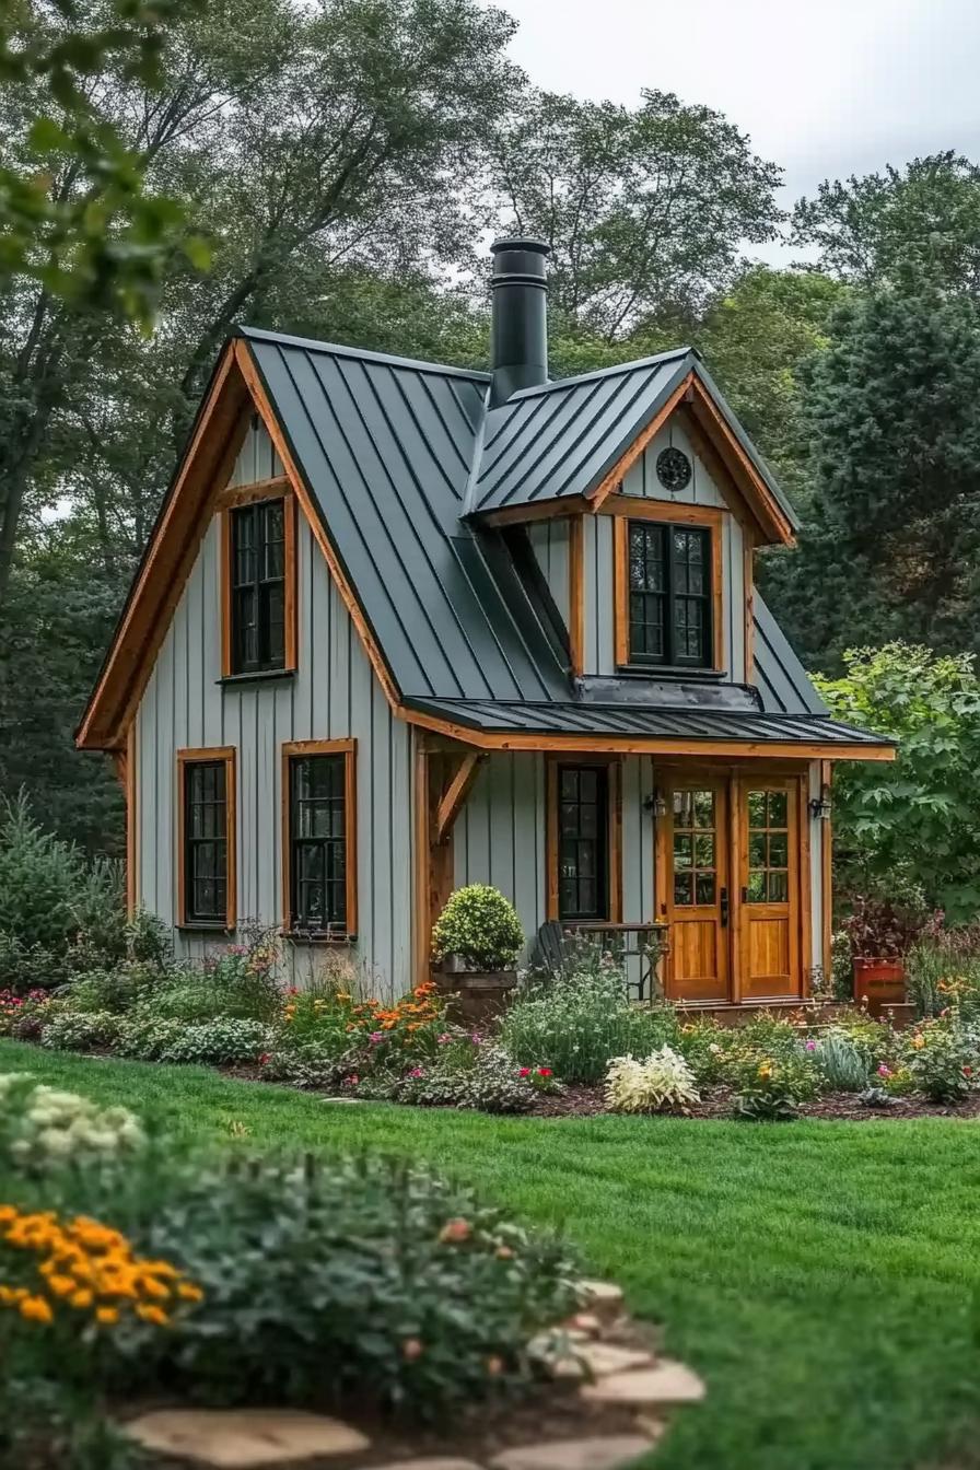
M671 444L683 450L692 465L691 484L676 495L669 495L657 479L657 456ZM623 479L623 494L636 495L641 500L657 500L661 504L727 509L721 491L695 454L691 440L683 428L673 420L660 431L627 470ZM614 676L617 667L613 626L613 517L586 514L583 526L583 673ZM535 550L538 550L536 544ZM541 553L538 554L541 559ZM542 564L545 563L542 562ZM721 579L724 672L730 682L742 684L745 681L745 560L742 528L733 514L726 514L723 519Z

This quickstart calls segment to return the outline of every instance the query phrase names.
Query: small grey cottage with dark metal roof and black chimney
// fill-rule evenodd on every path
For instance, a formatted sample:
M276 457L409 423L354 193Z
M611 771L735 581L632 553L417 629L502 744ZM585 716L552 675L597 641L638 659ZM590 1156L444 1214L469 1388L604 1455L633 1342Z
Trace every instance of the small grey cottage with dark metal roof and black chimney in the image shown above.
M754 588L795 516L698 353L550 381L547 245L494 245L469 372L239 329L78 731L126 791L131 904L425 976L453 888L642 956L667 994L829 966L829 717ZM551 931L554 932L554 931Z

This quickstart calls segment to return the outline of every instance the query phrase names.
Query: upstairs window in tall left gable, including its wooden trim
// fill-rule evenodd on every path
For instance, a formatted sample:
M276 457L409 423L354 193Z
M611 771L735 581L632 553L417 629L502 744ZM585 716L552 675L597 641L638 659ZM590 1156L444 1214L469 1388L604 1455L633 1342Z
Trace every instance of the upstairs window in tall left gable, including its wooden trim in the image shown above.
M294 500L250 501L225 517L223 673L294 669Z

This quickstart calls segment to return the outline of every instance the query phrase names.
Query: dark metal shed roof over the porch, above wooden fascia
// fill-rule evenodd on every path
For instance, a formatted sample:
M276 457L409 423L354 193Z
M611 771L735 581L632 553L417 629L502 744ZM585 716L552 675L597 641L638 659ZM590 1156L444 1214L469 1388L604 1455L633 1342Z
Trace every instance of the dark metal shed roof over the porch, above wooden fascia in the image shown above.
M663 710L621 704L514 704L413 700L420 713L498 735L610 735L629 739L815 742L890 745L892 741L826 714L763 714L758 710Z

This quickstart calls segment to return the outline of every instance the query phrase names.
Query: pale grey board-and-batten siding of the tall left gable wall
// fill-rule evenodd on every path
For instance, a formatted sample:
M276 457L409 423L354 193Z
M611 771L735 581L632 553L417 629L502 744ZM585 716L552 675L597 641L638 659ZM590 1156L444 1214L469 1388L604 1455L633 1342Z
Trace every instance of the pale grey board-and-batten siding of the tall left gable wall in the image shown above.
M266 431L253 423L231 484L282 469ZM178 954L220 942L176 931L176 753L232 745L237 751L238 919L281 925L282 744L357 741L357 945L367 994L411 983L411 738L391 714L350 614L303 512L297 514L298 667L295 675L241 684L220 679L219 522L197 562L163 639L137 714L138 900L175 926ZM322 951L291 950L297 983Z

